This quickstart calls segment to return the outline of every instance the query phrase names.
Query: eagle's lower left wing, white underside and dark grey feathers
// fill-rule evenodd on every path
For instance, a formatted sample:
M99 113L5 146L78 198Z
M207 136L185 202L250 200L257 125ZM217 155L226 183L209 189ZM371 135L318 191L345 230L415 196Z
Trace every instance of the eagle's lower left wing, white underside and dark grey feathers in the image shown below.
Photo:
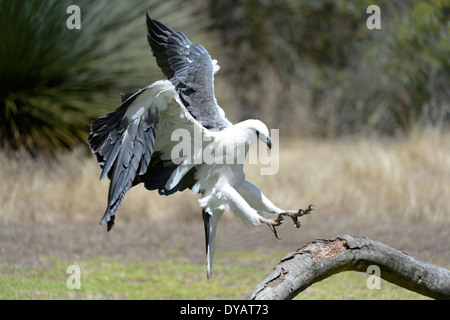
M91 125L88 144L102 167L100 179L111 180L108 204L100 224L114 222L127 191L144 182L148 189L171 194L186 187L193 166L175 164L171 134L184 129L207 134L181 103L169 81L158 81L134 94L122 95L122 105ZM192 173L192 172L191 172ZM170 189L167 189L170 187Z

